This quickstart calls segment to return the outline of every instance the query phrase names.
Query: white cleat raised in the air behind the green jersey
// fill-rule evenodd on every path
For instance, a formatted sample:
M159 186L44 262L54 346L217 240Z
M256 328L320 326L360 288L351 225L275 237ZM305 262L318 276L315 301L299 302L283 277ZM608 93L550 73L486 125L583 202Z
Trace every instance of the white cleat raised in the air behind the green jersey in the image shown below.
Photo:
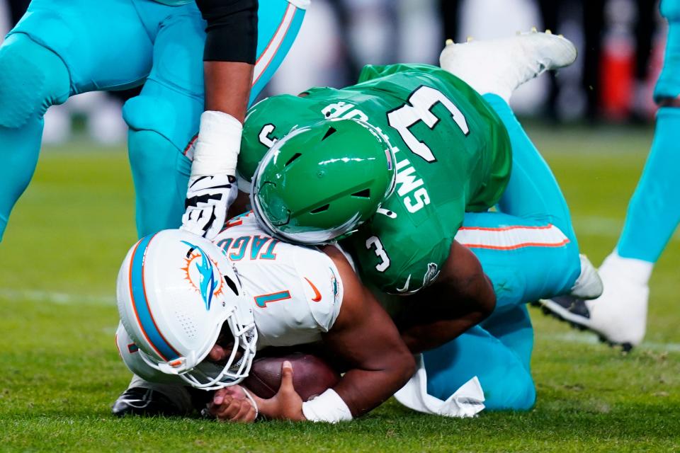
M536 28L511 38L448 42L439 56L442 69L463 79L480 94L495 93L506 101L521 84L577 57L570 40Z

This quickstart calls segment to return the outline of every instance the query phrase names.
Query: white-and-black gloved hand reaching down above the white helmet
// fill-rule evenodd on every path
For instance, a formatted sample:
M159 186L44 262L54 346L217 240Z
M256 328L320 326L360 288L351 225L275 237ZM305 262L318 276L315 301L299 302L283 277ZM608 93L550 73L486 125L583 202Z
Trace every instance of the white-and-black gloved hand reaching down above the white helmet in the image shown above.
M189 180L181 229L206 239L222 231L227 210L239 190L234 176L195 176Z

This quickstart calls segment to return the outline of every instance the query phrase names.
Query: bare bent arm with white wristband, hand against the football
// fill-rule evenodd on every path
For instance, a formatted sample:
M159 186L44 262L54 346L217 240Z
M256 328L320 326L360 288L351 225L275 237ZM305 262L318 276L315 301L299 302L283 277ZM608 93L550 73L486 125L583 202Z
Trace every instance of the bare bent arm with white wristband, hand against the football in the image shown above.
M278 394L259 403L260 413L271 418L331 423L351 420L390 398L414 373L414 358L390 316L340 251L327 247L324 252L339 271L344 296L339 315L323 341L348 369L333 389L302 403L293 389L293 369L284 366Z

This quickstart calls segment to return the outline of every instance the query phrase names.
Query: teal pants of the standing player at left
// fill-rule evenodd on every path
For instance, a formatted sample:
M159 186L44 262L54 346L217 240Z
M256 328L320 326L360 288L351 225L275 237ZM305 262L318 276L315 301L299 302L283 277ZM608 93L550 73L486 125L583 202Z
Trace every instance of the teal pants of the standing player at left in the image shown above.
M304 11L261 0L251 100L271 79ZM43 115L86 91L144 84L126 103L140 236L179 226L203 112L205 22L193 2L33 0L0 47L0 237L33 176Z

